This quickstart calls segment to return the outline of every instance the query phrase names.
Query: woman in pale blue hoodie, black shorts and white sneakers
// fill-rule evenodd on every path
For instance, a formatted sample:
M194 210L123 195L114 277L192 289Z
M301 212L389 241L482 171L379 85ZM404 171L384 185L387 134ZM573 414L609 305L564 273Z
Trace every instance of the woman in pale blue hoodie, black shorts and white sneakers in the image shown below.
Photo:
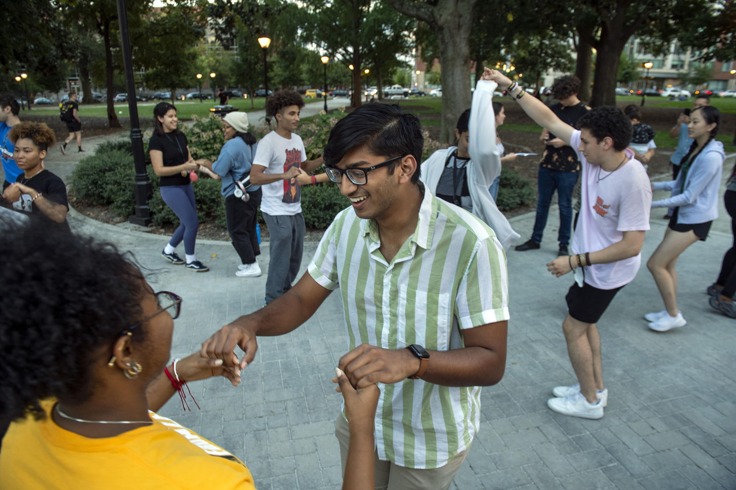
M676 180L654 182L654 191L672 191L668 199L659 199L651 207L674 207L665 238L651 255L647 267L662 294L665 309L647 313L649 328L666 332L687 322L677 309L677 272L680 254L698 240L705 241L712 221L718 218L718 190L721 187L723 143L715 141L721 125L721 112L712 106L700 107L690 115L687 134L693 138L690 152L680 163Z

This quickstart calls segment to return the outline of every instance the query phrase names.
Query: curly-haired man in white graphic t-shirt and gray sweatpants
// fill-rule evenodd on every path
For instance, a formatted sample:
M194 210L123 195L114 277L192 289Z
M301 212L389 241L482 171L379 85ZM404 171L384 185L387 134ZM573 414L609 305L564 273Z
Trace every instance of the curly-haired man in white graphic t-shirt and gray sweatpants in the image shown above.
M299 126L302 107L302 96L292 90L280 90L269 97L266 116L275 117L276 129L258 142L250 170L250 183L261 185L263 190L261 213L269 228L266 303L289 291L297 278L305 230L301 186L316 183L308 173L322 165L322 157L307 160L302 138L292 132Z

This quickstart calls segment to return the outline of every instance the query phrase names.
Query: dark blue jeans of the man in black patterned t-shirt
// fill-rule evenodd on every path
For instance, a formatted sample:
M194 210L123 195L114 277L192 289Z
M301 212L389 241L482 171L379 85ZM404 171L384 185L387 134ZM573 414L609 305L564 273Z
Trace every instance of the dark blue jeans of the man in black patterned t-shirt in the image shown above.
M531 239L537 244L542 243L542 232L547 225L547 215L550 210L552 194L557 190L559 200L559 233L557 241L560 246L570 244L570 228L573 221L573 189L578 182L580 172L563 172L539 167L537 186L539 199L537 200L537 219L534 221L534 232Z

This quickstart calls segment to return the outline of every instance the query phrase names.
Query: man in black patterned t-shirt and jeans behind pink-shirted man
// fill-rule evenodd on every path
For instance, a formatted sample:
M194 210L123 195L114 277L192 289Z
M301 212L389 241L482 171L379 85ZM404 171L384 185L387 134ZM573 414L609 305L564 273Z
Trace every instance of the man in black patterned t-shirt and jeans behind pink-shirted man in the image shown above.
M573 75L562 77L552 87L552 94L559 102L551 108L563 122L576 127L578 119L590 110L590 107L578 99L580 79ZM578 182L580 162L575 149L567 146L565 141L556 138L547 129L542 130L539 140L546 144L542 161L539 163L537 174L537 218L534 220L534 232L531 239L517 245L519 252L538 249L542 243L542 233L547 225L547 216L552 201L552 194L557 191L559 199L559 255L568 255L567 246L570 244L570 231L573 221L573 189Z

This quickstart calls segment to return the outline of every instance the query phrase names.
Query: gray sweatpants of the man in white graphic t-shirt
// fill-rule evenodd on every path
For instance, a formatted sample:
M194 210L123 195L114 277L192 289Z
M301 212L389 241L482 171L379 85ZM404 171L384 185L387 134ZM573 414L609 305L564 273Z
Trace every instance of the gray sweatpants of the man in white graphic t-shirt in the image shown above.
M269 275L266 279L266 303L291 289L302 266L304 252L304 216L270 215L263 213L269 227Z

